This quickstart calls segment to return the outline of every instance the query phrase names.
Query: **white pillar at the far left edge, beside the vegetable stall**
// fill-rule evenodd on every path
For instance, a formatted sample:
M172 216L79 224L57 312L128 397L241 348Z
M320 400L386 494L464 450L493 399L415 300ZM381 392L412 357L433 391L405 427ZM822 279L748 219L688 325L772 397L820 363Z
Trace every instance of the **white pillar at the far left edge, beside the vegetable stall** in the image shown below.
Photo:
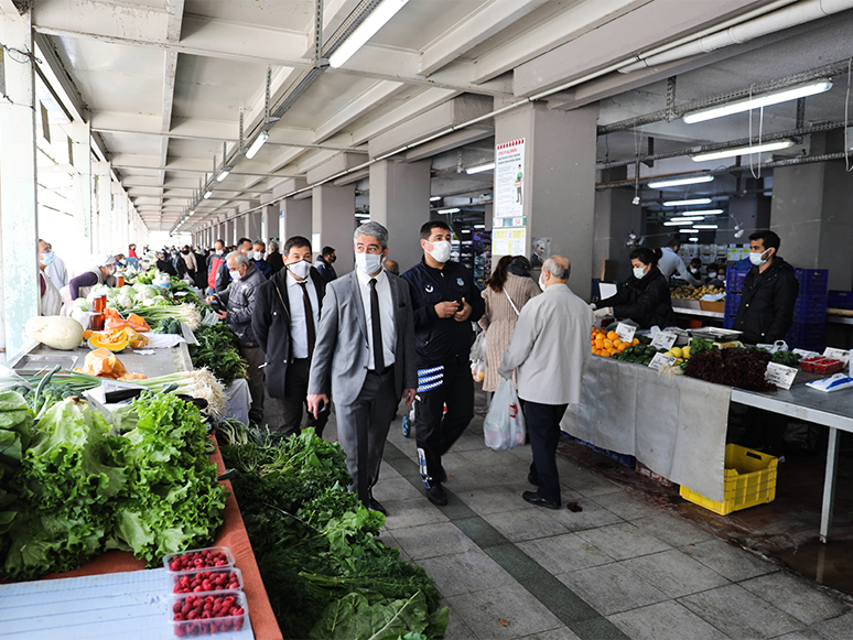
M0 42L33 51L32 17L0 15ZM35 86L32 59L6 55L6 95L14 105L0 108L0 259L2 260L2 346L18 354L26 337L23 326L39 315L39 218L35 174ZM22 254L23 251L23 254Z

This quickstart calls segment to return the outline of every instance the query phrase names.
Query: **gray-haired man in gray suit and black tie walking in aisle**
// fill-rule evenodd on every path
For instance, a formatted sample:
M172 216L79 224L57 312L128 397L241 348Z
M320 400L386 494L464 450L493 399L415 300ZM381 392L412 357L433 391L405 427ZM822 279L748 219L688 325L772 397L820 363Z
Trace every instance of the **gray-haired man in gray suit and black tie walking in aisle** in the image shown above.
M337 440L346 452L352 491L369 509L385 441L400 398L410 406L418 386L409 285L382 269L388 230L356 229L356 270L328 283L309 378L309 411L335 399Z

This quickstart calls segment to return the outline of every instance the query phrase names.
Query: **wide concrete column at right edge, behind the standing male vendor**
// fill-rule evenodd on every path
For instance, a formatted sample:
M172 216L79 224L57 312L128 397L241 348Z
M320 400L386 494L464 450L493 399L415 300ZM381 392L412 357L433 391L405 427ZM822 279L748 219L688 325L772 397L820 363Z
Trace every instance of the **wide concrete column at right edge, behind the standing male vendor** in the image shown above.
M840 147L841 145L841 147ZM812 133L812 153L843 149L836 135ZM853 289L853 180L843 160L774 170L770 228L793 267L829 269L829 289Z

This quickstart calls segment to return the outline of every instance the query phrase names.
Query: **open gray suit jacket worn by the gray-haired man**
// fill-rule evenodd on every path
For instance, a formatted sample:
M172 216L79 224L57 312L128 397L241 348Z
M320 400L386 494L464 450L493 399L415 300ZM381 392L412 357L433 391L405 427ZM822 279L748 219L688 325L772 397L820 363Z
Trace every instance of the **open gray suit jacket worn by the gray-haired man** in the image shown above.
M395 308L397 346L395 348L395 384L397 397L404 389L418 387L414 351L414 319L409 284L387 273ZM367 377L370 348L365 310L355 271L330 282L323 299L314 356L311 360L309 393L332 394L336 403L352 404Z

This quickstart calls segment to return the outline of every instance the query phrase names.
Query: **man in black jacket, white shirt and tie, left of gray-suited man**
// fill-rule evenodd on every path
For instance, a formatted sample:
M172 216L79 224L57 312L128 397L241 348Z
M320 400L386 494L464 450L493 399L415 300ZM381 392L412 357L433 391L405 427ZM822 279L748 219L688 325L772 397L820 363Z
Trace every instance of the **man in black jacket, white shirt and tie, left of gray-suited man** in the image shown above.
M281 412L277 431L299 435L326 283L311 265L307 238L290 238L284 261L284 269L258 289L251 326L266 355L267 392ZM327 421L327 410L316 419L309 413L309 426L320 436Z

